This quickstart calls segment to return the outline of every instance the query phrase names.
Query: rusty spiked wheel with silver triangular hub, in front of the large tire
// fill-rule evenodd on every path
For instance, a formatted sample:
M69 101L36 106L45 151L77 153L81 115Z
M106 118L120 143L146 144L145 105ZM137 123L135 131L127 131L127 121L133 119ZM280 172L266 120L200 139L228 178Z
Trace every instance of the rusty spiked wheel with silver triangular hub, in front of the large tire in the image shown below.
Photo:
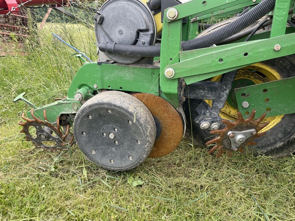
M266 134L266 132L261 132L260 134L258 134L258 132L269 123L265 122L260 124L266 114L264 113L255 120L255 112L254 109L249 118L245 120L240 112L238 112L238 120L235 122L222 120L226 127L210 132L210 134L217 134L219 136L206 143L206 145L216 143L216 145L209 150L209 153L219 150L217 154L218 158L223 152L227 152L228 156L231 157L233 151L244 152L244 147L246 145L255 145L256 142L253 142L253 140Z

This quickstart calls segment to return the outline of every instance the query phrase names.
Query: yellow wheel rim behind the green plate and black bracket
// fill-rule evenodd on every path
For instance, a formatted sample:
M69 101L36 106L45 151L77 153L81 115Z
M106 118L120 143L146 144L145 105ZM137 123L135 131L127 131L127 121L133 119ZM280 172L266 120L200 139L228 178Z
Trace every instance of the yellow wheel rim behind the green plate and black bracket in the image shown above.
M213 77L211 81L219 81L221 79L221 75ZM251 64L245 68L238 70L237 76L235 80L245 79L250 80L254 84L264 83L273 80L282 79L281 75L273 68L269 67L264 63L255 63ZM210 106L212 105L212 100L205 100ZM220 111L220 117L226 120L237 120L237 112L238 109L231 106L228 101L225 102L224 107ZM259 116L256 116L258 118ZM275 117L267 117L263 120L269 121L269 124L264 127L261 132L267 131L276 124L278 124L284 115L275 116Z

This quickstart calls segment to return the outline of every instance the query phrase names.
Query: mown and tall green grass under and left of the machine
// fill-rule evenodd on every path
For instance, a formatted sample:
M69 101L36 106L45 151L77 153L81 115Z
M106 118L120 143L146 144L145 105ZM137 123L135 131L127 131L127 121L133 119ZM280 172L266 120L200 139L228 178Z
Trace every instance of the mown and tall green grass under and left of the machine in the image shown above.
M126 172L104 170L77 146L48 153L19 134L29 107L64 97L80 67L72 49L96 59L92 30L47 24L27 56L0 57L0 220L295 220L295 158L208 154L183 140Z

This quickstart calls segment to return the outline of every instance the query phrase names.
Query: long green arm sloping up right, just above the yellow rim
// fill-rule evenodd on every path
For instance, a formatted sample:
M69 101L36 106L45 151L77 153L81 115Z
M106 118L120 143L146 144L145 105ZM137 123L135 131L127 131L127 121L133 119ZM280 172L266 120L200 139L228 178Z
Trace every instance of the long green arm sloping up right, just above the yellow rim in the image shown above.
M294 39L295 33L292 33L270 39L185 51L180 53L179 63L168 65L167 68L175 70L173 78L184 77L185 82L191 84L252 63L295 54Z

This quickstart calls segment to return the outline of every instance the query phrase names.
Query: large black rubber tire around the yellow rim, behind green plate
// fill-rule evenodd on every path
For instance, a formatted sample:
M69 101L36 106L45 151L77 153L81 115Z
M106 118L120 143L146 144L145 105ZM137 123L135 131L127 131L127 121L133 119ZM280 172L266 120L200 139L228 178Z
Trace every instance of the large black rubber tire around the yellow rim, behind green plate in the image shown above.
M272 69L275 69L282 78L288 78L295 76L295 54L280 57L276 59L270 59L263 61L262 63L268 65ZM189 116L189 108L186 102L186 115L187 119L191 119ZM190 99L190 111L194 114L194 109L200 103L200 100ZM194 119L194 116L192 116ZM206 141L212 139L212 134L199 129L199 127L193 123L193 137L197 141L202 139L204 144ZM189 122L188 122L189 124ZM208 139L211 137L210 139ZM286 157L295 152L295 114L285 115L279 123L267 130L266 135L254 140L257 145L249 146L254 149L254 154L265 154L273 157Z

